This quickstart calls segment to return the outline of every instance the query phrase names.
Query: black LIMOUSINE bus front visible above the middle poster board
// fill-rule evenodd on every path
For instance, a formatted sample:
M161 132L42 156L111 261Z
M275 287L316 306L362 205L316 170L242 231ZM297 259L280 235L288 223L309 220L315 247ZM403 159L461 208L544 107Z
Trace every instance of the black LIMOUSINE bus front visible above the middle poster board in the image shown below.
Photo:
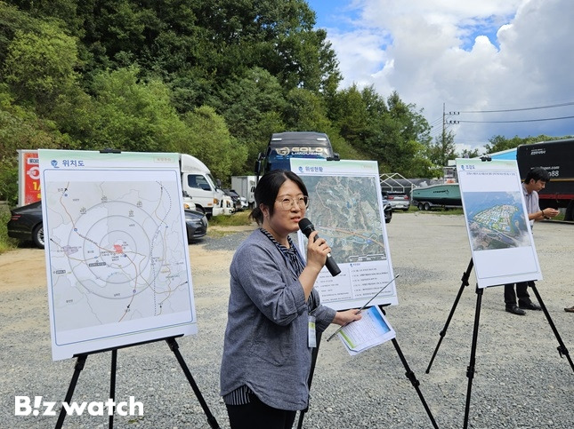
M331 141L324 132L286 131L271 135L267 150L260 153L255 163L255 175L271 170L291 170L291 158L338 160Z

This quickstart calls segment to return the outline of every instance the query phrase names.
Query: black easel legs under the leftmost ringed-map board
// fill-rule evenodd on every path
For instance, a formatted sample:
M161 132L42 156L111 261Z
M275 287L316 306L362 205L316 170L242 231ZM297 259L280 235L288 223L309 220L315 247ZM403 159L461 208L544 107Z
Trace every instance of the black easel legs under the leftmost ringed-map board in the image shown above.
M178 337L180 337L180 336L178 336ZM86 353L86 354L75 355L75 357L77 357L76 366L74 367L74 374L72 376L71 381L69 382L68 393L66 393L66 399L64 401L69 404L69 401L72 400L72 395L74 394L74 390L76 389L76 385L77 385L77 379L78 379L78 377L80 377L80 372L82 371L82 369L84 369L85 360L87 359L89 354L97 354L97 353L103 353L103 352L111 351L111 374L109 377L109 399L111 399L113 401L115 399L115 395L116 395L117 349L118 348L131 347L131 346L141 346L143 344L153 343L156 341L163 341L165 339L167 342L167 345L169 346L171 351L174 352L175 357L177 358L177 361L180 363L180 366L182 367L183 372L185 373L185 377L187 377L188 381L190 382L191 388L193 389L193 392L195 393L195 395L198 398L199 403L201 404L201 408L206 413L207 422L209 423L209 426L212 427L212 429L220 429L220 426L217 424L215 417L213 416L213 414L211 414L211 411L207 407L206 401L203 399L203 396L201 395L201 392L199 391L198 385L196 385L195 380L191 376L190 369L188 368L185 361L183 360L182 354L180 353L180 350L179 350L179 345L175 341L175 338L176 337L159 338L159 339L145 341L145 342L141 342L141 343L137 343L137 344L131 344L131 345L126 345L126 346L121 346L121 347L116 347L116 348L98 350L98 351L90 352L90 353ZM62 407L60 409L60 416L58 417L58 421L56 422L56 426L55 426L56 429L61 428L61 426L64 423L65 418L66 418L66 409L64 409ZM109 416L108 427L109 427L109 429L113 429L113 427L114 427L114 414L113 413Z

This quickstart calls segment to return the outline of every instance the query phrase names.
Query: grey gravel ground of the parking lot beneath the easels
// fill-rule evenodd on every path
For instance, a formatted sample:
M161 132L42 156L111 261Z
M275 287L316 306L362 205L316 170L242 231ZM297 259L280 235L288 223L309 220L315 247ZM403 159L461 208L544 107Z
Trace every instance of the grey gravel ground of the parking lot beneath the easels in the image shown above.
M249 228L247 228L249 229ZM462 427L476 306L474 275L464 288L433 367L425 373L439 332L470 260L462 216L395 213L387 225L399 306L387 307L397 344L420 382L420 392L441 428ZM233 250L242 230L190 246L198 335L180 338L184 360L207 406L229 427L219 398L219 364ZM538 290L563 343L574 355L572 255L574 226L537 224L535 239L544 280ZM52 361L44 253L20 249L0 255L0 427L53 427L57 417L15 416L15 396L63 401L75 360ZM484 290L469 427L574 427L574 369L560 357L557 338L542 312L505 313L503 290ZM325 335L335 327L329 328ZM74 401L107 401L110 354L88 357ZM119 428L206 428L206 414L165 342L120 349L117 401L133 396L143 416L116 416ZM42 409L43 410L43 409ZM66 417L64 427L108 427L108 417ZM311 387L306 428L428 428L430 418L392 343L351 357L338 341L323 341Z

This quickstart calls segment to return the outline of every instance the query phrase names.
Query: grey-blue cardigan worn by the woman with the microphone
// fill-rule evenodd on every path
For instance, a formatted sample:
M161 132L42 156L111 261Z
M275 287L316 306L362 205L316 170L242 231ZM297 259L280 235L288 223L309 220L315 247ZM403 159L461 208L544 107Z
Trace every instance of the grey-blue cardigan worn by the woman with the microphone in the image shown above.
M312 293L319 303L319 293ZM322 332L336 311L319 305L312 314ZM305 409L311 369L307 332L303 286L275 244L257 229L239 245L230 266L221 394L247 385L273 408Z

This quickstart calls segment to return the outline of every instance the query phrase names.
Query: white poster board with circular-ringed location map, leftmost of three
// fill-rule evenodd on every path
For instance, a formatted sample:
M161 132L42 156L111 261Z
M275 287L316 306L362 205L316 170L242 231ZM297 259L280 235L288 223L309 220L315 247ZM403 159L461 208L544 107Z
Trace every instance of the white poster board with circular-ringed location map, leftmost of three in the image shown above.
M39 160L53 360L196 333L179 156Z

